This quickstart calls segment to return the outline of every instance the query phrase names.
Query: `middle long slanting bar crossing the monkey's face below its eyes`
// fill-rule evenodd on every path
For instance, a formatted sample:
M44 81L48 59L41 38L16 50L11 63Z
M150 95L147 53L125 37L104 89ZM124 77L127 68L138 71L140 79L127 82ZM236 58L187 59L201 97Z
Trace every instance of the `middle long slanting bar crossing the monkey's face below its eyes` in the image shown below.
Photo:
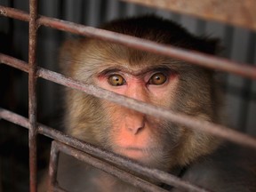
M0 60L1 60L1 55L0 55ZM12 63L9 63L8 65L12 66ZM20 65L23 65L23 62L20 62ZM72 78L67 78L66 76L63 76L56 72L52 72L44 68L38 68L37 76L50 80L56 84L62 84L64 86L68 86L76 90L83 91L87 94L92 94L95 97L98 97L101 99L110 100L126 108L132 108L136 111L139 111L144 114L148 114L150 116L156 116L156 117L168 119L172 121L172 123L181 124L186 126L187 128L191 128L200 132L208 132L212 135L218 136L225 140L230 140L240 145L256 148L255 138L253 138L252 136L246 135L242 132L237 132L236 130L230 129L223 125L213 124L211 122L197 119L192 116L174 112L170 109L156 107L148 103L141 102L139 100L133 100L131 98L125 97L124 95L120 95L115 92L109 92L100 87L83 84L82 82L78 82Z

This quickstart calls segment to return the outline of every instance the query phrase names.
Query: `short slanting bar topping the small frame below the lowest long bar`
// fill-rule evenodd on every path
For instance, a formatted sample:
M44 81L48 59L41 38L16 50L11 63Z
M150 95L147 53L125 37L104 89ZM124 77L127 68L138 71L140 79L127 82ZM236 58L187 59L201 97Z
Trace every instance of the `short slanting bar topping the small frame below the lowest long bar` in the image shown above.
M137 188L142 188L146 191L151 191L151 192L155 192L155 191L167 192L167 190L164 190L163 188L159 188L156 185L149 183L146 180L142 180L132 175L129 172L125 172L124 170L121 170L112 164L106 163L103 160L95 158L89 154L86 154L80 150L77 150L76 148L71 148L63 143L52 141L52 148L53 149L55 148L56 150L55 153L58 153L59 151L64 152L65 154L68 154L69 156L73 156L76 159L83 161L84 163L91 164L95 168L98 168L104 172L108 172L109 174L116 176L118 179L123 180L127 183L130 183ZM54 166L54 164L50 164L50 169L57 170L57 166ZM84 181L86 182L86 180Z

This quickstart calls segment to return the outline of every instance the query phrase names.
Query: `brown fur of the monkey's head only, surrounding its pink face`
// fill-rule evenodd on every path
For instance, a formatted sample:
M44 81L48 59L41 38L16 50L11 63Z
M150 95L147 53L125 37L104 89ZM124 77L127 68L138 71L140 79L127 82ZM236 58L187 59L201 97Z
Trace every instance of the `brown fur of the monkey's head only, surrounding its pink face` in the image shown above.
M215 41L192 36L177 24L155 16L116 20L103 28L206 53L213 54L216 50ZM214 73L206 68L91 38L69 41L60 52L60 64L65 75L85 84L98 85L95 76L113 63L136 71L158 63L172 69L179 74L177 89L170 91L168 101L154 101L153 104L220 123L220 95ZM115 148L110 137L113 124L108 121L112 114L109 111L127 109L71 89L67 89L66 104L65 124L69 134L101 148ZM198 157L212 153L220 144L220 140L204 132L188 130L164 120L161 124L163 128L154 131L152 138L157 145L163 146L164 157L154 164L146 164L148 166L170 172L175 166L190 164Z

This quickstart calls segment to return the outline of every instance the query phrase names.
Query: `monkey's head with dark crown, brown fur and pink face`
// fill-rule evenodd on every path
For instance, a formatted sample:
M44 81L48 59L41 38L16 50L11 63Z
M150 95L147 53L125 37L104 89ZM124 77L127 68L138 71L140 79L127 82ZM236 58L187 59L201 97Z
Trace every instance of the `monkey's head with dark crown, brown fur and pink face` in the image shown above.
M116 20L104 29L162 44L214 53L216 43L190 35L155 16ZM182 60L92 38L69 41L60 52L67 76L135 100L218 122L213 72ZM167 170L212 153L219 140L144 115L108 100L68 89L66 126L71 135L142 164Z

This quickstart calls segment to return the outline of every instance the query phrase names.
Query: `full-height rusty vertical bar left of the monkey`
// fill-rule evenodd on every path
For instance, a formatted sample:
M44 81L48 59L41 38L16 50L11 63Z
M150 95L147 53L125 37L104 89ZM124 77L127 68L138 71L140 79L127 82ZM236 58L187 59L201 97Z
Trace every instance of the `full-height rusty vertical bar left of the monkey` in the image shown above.
M36 18L37 0L29 0L29 47L28 47L28 116L29 116L29 179L30 191L36 192Z

